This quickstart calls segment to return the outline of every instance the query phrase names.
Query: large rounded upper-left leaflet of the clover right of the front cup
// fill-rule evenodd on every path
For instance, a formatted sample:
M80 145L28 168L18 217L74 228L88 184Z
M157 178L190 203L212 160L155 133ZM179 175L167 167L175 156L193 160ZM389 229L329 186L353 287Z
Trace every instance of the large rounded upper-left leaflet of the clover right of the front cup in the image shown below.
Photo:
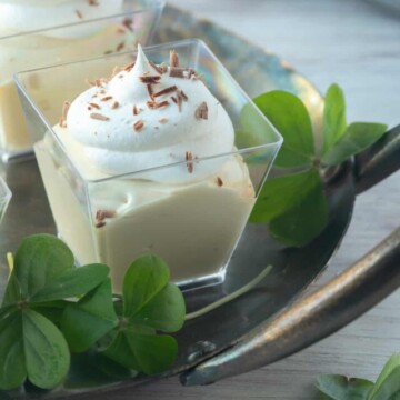
M283 144L274 161L276 167L293 168L311 166L314 159L314 141L310 116L302 101L286 91L270 91L257 97L254 103L283 137ZM244 109L246 110L246 109ZM246 129L250 122L242 116Z

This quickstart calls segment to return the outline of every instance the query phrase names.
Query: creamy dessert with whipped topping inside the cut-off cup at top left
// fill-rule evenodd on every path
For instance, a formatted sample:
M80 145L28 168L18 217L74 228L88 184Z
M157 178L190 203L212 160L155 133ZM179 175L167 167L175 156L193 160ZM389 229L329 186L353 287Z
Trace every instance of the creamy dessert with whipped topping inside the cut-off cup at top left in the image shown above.
M118 13L120 8L118 4L118 7L111 7L110 1L99 0L98 2L99 7L79 1L81 7L74 8L73 1L52 1L51 10L49 10L46 2L0 0L0 151L12 153L31 149L31 139L12 81L13 73L47 64L87 59L117 50L129 50L137 44L136 34L118 21L114 23L107 21L107 26L106 22L96 22L80 28L49 30L41 34L11 37L27 30ZM60 13L59 7L68 8L68 13ZM80 17L77 10L82 10ZM42 21L43 13L47 16L46 22ZM23 24L16 22L24 19L27 21Z

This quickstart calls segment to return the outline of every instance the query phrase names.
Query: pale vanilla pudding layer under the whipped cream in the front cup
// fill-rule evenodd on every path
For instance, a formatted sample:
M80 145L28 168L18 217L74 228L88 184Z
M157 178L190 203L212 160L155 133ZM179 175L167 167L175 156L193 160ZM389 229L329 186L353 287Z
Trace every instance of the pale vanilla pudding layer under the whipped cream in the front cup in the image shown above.
M59 233L80 264L111 267L117 293L127 267L149 252L167 261L174 282L218 273L254 203L246 163L230 156L207 179L186 184L140 179L89 184L89 214L86 193L58 161L51 139L37 143L34 151ZM174 173L186 166L170 168Z

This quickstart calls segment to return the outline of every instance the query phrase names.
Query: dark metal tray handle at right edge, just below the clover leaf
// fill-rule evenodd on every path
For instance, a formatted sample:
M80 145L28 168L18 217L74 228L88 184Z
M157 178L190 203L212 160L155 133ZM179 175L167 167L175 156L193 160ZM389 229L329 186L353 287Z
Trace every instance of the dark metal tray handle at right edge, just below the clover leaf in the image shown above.
M356 157L356 191L362 193L400 169L400 124Z

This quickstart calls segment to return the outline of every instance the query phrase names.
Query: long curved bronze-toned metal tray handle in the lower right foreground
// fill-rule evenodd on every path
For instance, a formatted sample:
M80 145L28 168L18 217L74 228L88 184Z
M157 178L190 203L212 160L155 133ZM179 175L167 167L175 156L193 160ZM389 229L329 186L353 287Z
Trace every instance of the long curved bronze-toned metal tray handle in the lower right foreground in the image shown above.
M400 228L322 288L182 373L181 382L207 384L278 361L336 332L399 287Z

